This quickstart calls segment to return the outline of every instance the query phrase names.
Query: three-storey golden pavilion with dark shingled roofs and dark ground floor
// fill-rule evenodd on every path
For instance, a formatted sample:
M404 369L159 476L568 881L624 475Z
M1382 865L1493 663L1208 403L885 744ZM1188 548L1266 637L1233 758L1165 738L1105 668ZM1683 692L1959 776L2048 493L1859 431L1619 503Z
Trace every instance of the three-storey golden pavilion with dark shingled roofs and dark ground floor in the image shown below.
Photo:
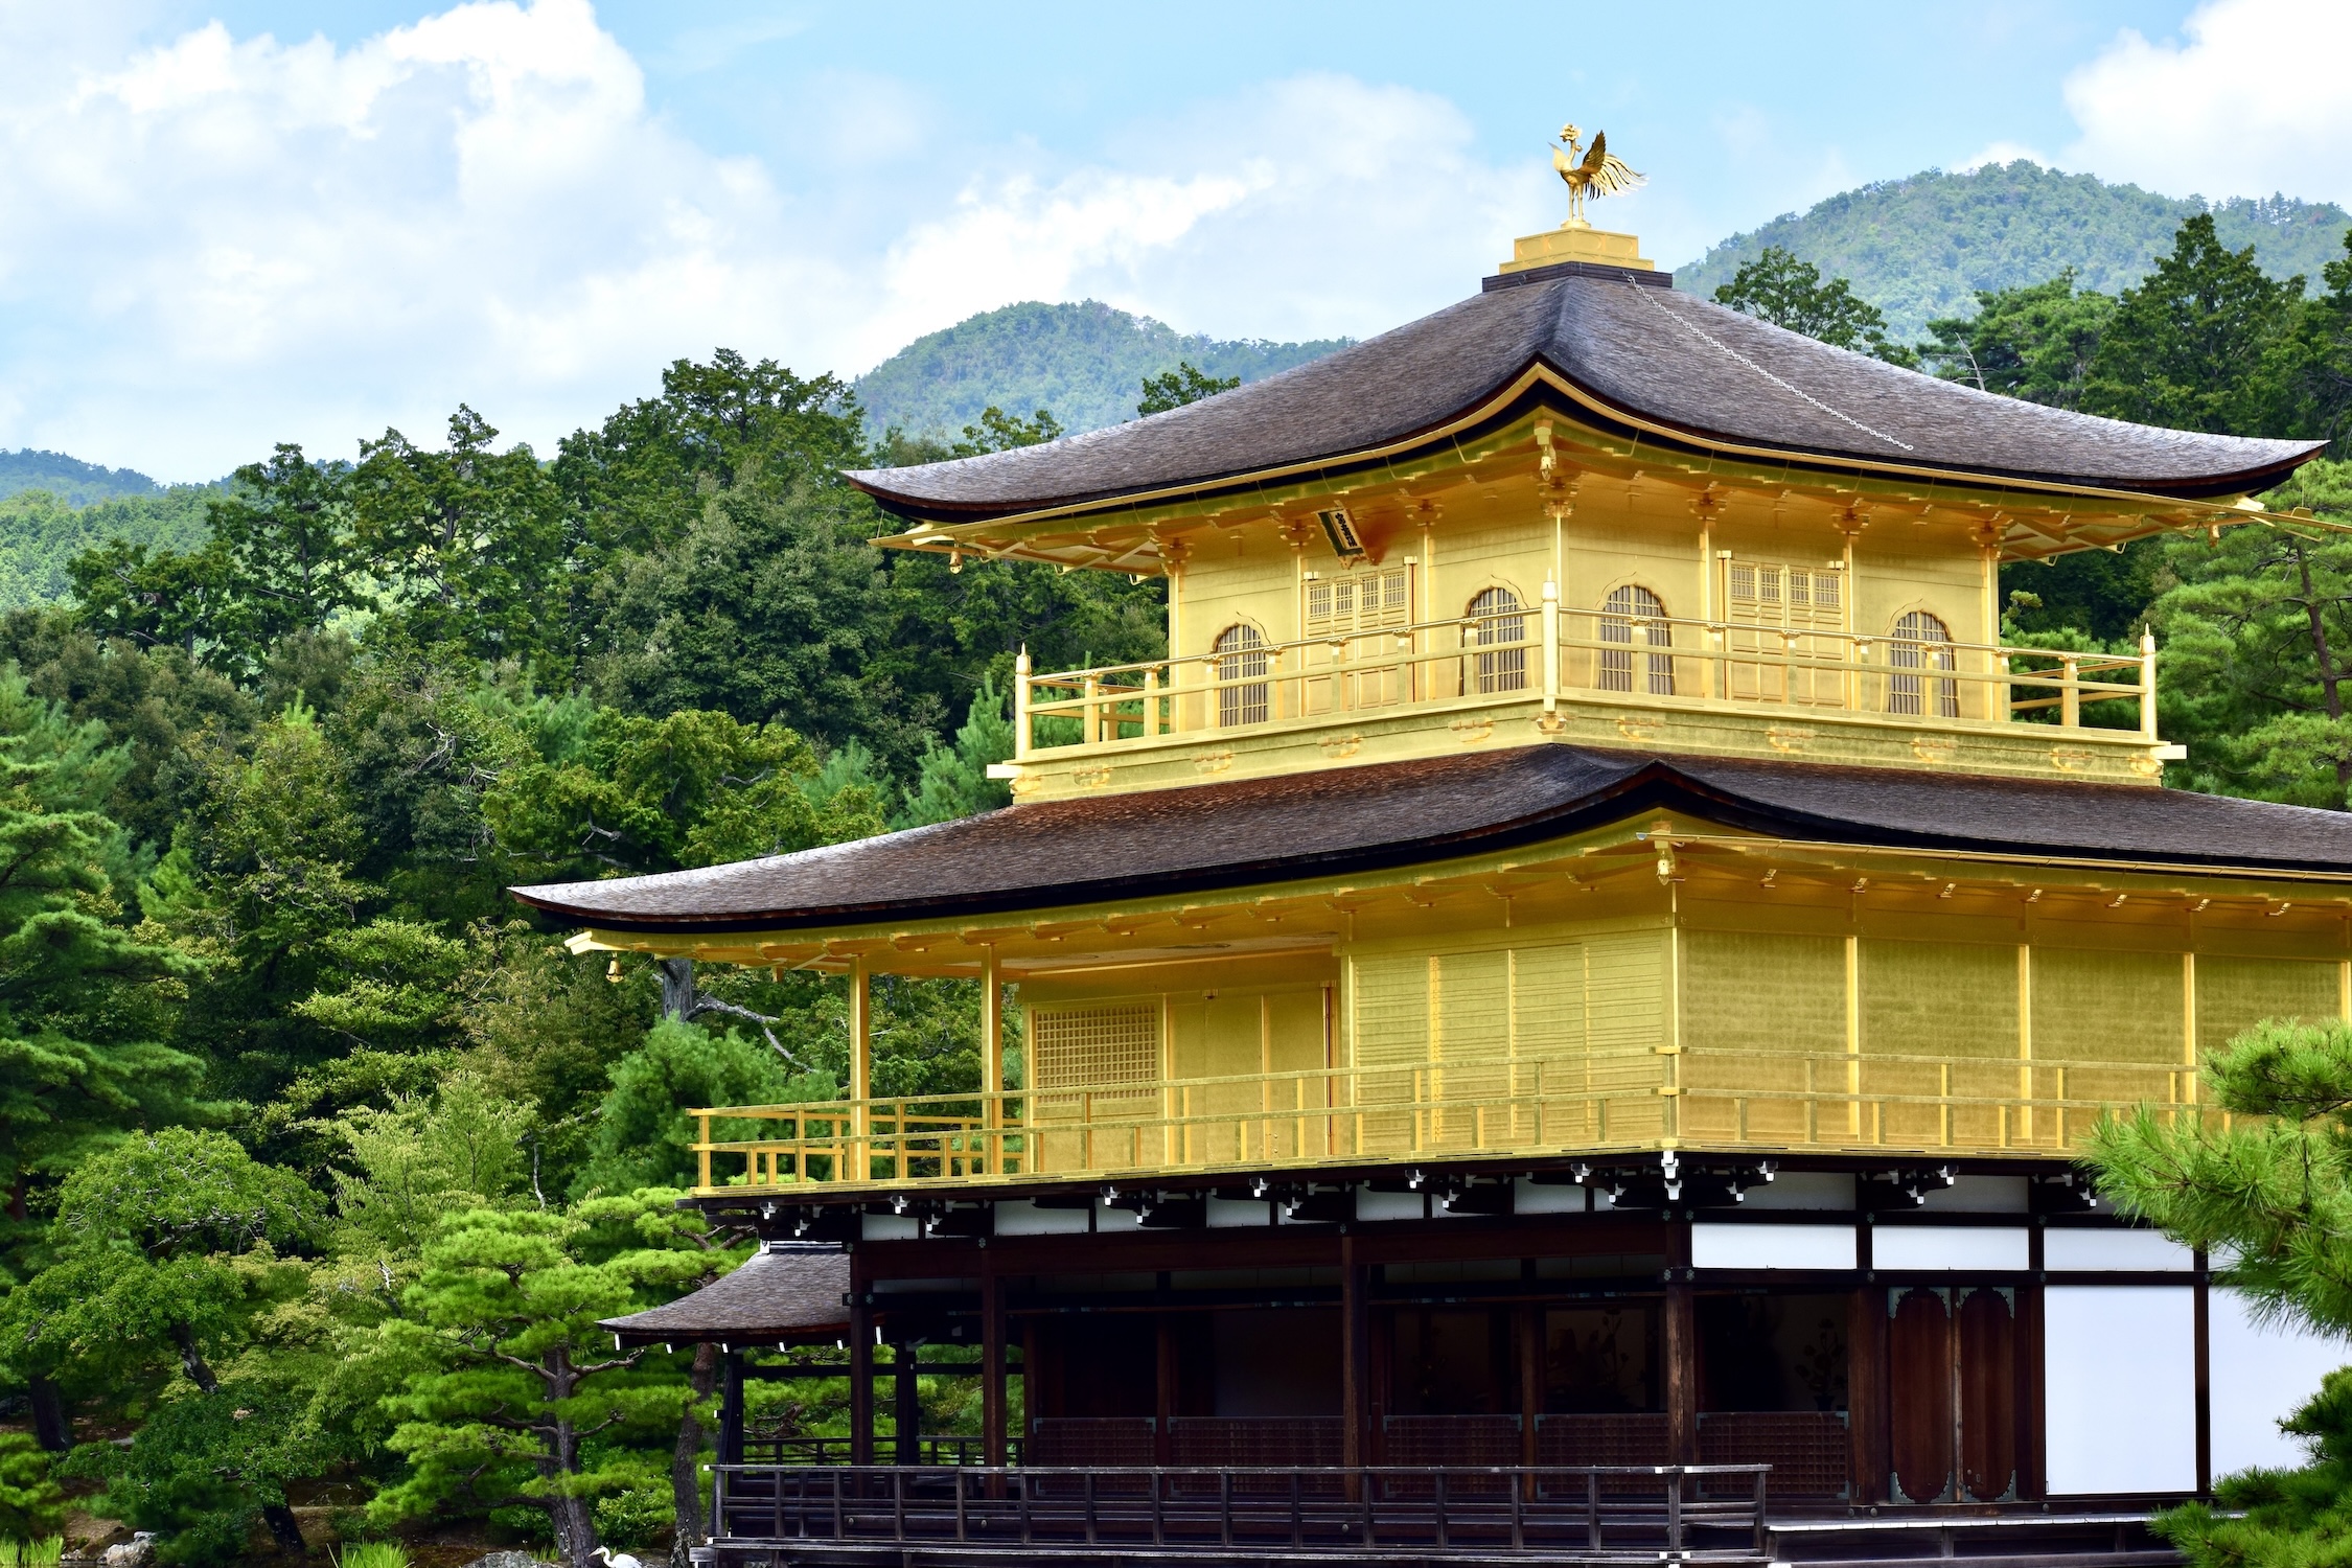
M2279 527L2317 451L1583 230L1190 407L849 475L891 548L1162 576L1169 654L1023 658L1002 811L517 891L851 992L847 1100L699 1112L760 1258L614 1324L727 1347L703 1552L2173 1561L2147 1509L2305 1392L2213 1359L2312 1352L2070 1150L2352 1013L2352 818L2164 788L2152 642L2013 646L1999 569ZM978 1091L868 1091L873 976L983 983ZM790 1345L844 1352L837 1453L746 1432Z

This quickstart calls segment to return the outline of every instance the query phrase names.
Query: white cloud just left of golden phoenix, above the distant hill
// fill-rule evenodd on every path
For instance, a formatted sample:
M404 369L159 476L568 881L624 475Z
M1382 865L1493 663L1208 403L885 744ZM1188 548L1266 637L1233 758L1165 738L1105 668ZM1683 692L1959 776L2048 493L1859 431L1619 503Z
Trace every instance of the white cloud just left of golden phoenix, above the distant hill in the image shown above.
M1134 127L1120 172L967 190L908 235L880 336L903 341L898 320L960 273L971 303L1096 296L1221 336L1385 331L1475 292L1512 235L1564 216L1534 148L1496 167L1470 143L1449 101L1341 75Z

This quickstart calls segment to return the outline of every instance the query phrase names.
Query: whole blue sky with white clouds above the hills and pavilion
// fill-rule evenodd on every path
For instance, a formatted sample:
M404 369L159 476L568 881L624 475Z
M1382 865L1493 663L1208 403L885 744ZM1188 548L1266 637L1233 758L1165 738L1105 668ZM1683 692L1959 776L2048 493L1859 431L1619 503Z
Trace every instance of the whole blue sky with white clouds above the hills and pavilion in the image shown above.
M0 447L546 447L677 355L856 374L1016 299L1364 336L1559 219L1566 118L1668 266L1985 155L2352 200L2347 16L0 0Z

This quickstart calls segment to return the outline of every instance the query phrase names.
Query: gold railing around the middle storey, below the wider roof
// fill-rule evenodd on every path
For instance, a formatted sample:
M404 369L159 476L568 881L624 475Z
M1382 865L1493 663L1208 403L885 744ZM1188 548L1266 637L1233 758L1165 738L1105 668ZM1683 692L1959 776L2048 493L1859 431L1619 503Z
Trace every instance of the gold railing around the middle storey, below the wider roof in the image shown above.
M2197 1070L1649 1046L689 1114L699 1190L724 1194L1658 1147L2053 1154L2140 1103L2204 1114ZM713 1138L715 1121L779 1135Z

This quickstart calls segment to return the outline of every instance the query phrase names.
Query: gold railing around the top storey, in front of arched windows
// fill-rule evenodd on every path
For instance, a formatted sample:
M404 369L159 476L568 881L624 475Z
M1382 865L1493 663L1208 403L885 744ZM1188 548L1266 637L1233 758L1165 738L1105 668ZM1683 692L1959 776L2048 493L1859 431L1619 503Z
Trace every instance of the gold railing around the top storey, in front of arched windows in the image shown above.
M1265 724L1479 701L1545 708L1630 696L1642 705L1757 703L1936 724L2013 724L2051 710L2082 729L2086 703L2136 701L2157 738L2157 654L2077 654L1978 642L1860 637L1743 621L1639 618L1545 599L1510 616L1033 675L1014 682L1016 759L1040 750L1232 733Z

